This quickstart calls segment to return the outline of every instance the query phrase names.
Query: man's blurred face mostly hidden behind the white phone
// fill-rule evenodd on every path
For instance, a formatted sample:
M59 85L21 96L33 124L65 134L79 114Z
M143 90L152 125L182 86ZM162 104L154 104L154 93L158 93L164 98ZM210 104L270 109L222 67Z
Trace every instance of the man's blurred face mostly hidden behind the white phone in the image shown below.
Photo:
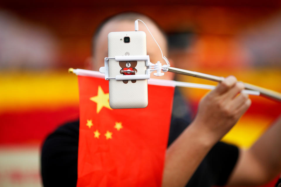
M158 42L159 46L162 49L163 55L167 55L167 41L160 30L150 21L144 20L145 24L148 26L150 32L153 34L154 38ZM157 44L151 37L150 33L147 31L146 27L142 22L139 22L139 30L142 30L146 33L146 45L147 45L147 54L150 57L152 63L160 61L162 65L165 64L165 61L162 59L160 49ZM92 69L98 71L100 67L104 66L104 58L108 56L107 51L107 35L109 32L121 32L121 31L134 31L134 22L129 21L109 21L107 22L100 33L98 34L96 41L94 43L94 57ZM170 72L166 72L162 77L152 76L151 78L162 78L162 79L172 79L173 75Z

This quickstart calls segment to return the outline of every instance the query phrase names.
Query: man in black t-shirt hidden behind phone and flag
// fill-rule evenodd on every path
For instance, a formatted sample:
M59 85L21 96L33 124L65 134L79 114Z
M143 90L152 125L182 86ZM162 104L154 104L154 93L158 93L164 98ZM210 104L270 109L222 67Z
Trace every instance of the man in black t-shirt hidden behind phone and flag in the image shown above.
M149 18L133 13L117 15L104 22L93 42L91 69L103 66L107 56L107 34L112 31L133 30L133 21L141 19L167 54L165 35ZM139 24L140 30L146 32ZM147 34L150 60L162 59L151 36ZM90 67L88 67L90 68ZM165 73L166 79L173 74ZM173 112L169 145L166 152L162 186L230 186L259 185L268 182L281 171L281 120L268 130L249 150L217 143L251 105L244 89L235 77L227 77L201 101L198 112L189 125L186 112L179 117ZM236 97L237 96L237 97ZM184 103L174 98L173 111ZM182 105L182 104L179 104ZM188 128L186 128L189 125ZM59 127L49 135L42 148L42 178L44 186L76 186L79 122Z

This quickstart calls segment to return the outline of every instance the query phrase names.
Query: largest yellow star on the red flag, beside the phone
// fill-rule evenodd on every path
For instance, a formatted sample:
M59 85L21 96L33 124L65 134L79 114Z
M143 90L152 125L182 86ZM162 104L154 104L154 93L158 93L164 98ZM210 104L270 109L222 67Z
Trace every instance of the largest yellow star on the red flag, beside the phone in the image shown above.
M97 113L102 110L102 107L112 110L109 106L109 93L104 93L101 86L97 88L97 96L91 97L90 100L97 103Z

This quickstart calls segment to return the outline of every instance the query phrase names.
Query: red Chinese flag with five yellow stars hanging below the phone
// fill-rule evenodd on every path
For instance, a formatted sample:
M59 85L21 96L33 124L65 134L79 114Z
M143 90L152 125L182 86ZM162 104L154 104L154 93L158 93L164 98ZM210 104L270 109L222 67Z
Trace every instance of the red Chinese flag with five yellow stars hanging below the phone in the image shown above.
M111 109L108 81L78 82L77 186L161 186L174 87L149 84L146 108Z

